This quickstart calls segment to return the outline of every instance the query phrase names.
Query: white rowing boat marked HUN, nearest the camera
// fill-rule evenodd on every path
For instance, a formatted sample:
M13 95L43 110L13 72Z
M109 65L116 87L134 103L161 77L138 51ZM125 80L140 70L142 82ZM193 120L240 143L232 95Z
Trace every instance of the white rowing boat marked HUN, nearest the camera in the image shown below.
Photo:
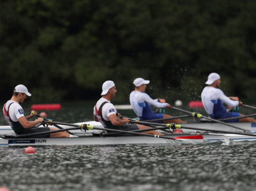
M175 140L158 137L132 136L132 135L85 135L70 138L38 138L15 139L0 138L0 145L9 146L34 146L34 145L127 145L127 144L203 144L217 141L256 141L256 136L234 134L168 134ZM3 137L3 136L2 136Z

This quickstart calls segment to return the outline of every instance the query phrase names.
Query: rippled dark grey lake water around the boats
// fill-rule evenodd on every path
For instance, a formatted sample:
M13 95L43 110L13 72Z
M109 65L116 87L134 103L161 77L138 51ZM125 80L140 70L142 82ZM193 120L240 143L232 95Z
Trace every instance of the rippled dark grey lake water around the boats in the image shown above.
M93 120L93 105L66 104L60 111L47 113L49 118L67 123L88 121ZM29 105L24 110L29 113ZM243 113L252 111L243 110ZM130 110L121 110L120 113L134 116ZM3 118L0 119L1 125L6 124ZM25 154L25 148L0 147L0 187L63 191L256 188L256 142L35 146L33 154Z

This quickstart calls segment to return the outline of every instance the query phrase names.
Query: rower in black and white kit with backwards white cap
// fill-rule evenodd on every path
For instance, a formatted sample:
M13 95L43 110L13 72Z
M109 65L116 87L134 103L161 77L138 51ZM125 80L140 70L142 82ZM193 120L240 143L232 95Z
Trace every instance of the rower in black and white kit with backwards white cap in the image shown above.
M151 129L148 126L128 124L128 118L119 118L120 115L117 113L116 108L110 100L115 97L116 87L113 81L106 81L102 86L103 92L101 93L102 97L98 100L94 107L94 120L99 121L104 128L108 129L117 129L123 131L132 131L132 130L142 130L142 129ZM155 130L144 131L142 133L153 134L153 135L163 135L160 132Z

